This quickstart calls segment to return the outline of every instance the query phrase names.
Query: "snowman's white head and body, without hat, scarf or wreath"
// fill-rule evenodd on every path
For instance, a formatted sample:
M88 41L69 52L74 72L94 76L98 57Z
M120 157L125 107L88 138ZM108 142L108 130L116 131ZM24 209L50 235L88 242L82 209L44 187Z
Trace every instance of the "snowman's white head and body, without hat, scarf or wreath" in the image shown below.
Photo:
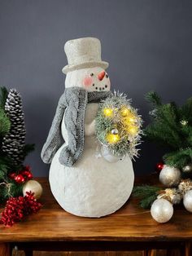
M110 80L103 68L81 68L69 72L66 88L80 86L88 91L110 90ZM85 110L85 145L81 158L72 167L59 162L59 154L68 145L68 130L63 121L64 144L56 152L50 166L50 188L64 210L84 217L102 217L120 209L133 189L133 165L129 156L109 162L98 157L99 142L94 119L98 104L89 103Z

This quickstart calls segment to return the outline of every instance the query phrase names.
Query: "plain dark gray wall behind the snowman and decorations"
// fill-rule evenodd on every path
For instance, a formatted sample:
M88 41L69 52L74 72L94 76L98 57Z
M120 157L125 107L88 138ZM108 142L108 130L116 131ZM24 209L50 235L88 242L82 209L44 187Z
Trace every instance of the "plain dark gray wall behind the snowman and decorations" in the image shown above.
M128 93L148 121L144 94L184 103L192 84L192 2L181 0L0 0L0 85L23 96L33 174L48 174L40 152L64 90L63 44L94 36L113 88ZM162 150L143 143L136 174L153 171Z

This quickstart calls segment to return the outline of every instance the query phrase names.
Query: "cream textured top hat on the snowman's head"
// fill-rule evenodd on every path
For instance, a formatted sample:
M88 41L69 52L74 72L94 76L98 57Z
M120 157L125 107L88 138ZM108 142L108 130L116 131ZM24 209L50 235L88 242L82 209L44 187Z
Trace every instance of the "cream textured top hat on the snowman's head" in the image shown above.
M106 69L108 63L101 59L101 43L98 38L78 38L65 43L64 51L68 58L68 65L62 71L99 66Z

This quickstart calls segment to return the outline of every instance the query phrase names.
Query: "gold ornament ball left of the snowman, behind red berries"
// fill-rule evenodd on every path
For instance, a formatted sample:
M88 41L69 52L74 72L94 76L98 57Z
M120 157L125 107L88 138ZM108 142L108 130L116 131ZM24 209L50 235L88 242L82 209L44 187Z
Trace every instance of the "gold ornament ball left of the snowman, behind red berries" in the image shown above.
M34 193L34 197L36 199L41 197L42 194L42 187L41 184L38 183L36 180L34 179L30 179L28 180L23 187L23 194L24 196L26 196L26 192L33 192Z

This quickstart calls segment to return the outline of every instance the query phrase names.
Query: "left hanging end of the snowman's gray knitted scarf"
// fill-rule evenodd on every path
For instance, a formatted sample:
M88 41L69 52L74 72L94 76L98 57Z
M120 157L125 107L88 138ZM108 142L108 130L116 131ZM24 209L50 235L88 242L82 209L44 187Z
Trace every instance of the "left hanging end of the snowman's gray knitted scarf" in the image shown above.
M55 152L57 152L59 147L63 144L63 137L61 135L60 126L65 108L66 107L64 106L63 94L59 99L59 104L56 109L55 117L50 127L50 132L46 139L46 143L41 150L41 159L46 164L52 161L53 157L55 156Z

